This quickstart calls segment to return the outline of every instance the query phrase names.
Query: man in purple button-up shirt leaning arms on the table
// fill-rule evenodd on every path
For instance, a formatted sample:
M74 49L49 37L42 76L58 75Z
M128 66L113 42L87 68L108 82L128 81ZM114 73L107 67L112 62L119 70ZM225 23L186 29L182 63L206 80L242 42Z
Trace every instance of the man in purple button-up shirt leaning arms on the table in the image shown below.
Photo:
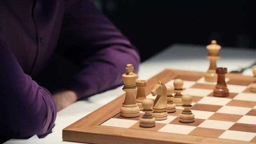
M33 79L56 48L80 71L52 95ZM126 64L138 72L139 62L136 48L92 0L0 0L0 136L47 133L58 110L122 84Z

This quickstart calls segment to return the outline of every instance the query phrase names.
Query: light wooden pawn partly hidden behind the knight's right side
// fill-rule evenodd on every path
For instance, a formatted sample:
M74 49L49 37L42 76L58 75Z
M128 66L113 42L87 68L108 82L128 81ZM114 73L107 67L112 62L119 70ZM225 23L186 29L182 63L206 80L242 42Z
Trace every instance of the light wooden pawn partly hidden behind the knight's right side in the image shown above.
M166 112L176 112L176 104L172 102L172 93L174 92L174 87L171 85L166 85L167 88L167 106L166 106Z

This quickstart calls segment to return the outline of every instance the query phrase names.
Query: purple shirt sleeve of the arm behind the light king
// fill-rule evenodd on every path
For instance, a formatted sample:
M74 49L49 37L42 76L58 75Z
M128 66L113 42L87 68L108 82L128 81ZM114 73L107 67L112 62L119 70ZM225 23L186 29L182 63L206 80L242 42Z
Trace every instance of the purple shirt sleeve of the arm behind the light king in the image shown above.
M138 72L137 49L91 0L66 2L59 46L80 67L68 82L78 99L123 84L126 64Z

